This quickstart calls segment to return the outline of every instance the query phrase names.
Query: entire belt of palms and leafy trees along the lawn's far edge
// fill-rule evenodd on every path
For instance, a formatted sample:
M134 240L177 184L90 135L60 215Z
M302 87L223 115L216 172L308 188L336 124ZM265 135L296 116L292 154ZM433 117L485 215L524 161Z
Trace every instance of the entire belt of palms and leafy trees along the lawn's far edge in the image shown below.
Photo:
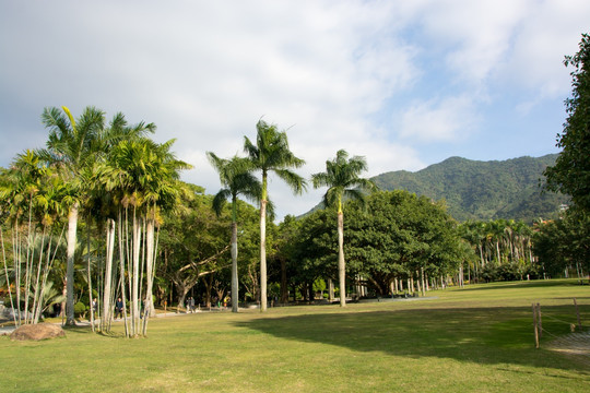
M444 201L379 190L362 177L365 157L337 148L309 179L326 188L324 209L275 225L268 176L286 182L293 198L308 186L286 132L263 120L253 139L244 138L243 157L208 153L222 183L214 195L180 180L191 166L175 157L174 140L150 139L153 123L130 124L122 114L107 121L94 107L78 117L46 108L42 121L45 148L16 155L0 174L0 300L16 324L83 317L109 332L120 312L132 337L146 334L156 308L184 310L190 298L234 312L345 307L588 274L588 218L556 211L533 224L460 223Z

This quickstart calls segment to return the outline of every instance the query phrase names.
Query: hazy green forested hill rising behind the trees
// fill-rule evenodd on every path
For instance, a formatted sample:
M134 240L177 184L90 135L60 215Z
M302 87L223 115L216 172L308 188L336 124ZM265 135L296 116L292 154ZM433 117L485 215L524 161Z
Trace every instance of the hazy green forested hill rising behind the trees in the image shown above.
M507 160L477 162L451 157L410 172L390 171L373 178L381 190L406 190L433 200L446 200L458 221L522 219L555 216L563 194L541 193L543 170L555 164L557 154Z

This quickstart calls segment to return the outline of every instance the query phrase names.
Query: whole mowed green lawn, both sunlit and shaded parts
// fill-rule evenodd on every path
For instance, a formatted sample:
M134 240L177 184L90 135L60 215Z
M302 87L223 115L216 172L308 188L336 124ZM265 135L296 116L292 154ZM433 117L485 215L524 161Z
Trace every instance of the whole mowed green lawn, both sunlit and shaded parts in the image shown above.
M0 337L2 392L588 392L588 358L548 349L590 324L590 286L526 282L430 291L436 299L154 319L149 337L70 329ZM548 333L534 348L533 302Z

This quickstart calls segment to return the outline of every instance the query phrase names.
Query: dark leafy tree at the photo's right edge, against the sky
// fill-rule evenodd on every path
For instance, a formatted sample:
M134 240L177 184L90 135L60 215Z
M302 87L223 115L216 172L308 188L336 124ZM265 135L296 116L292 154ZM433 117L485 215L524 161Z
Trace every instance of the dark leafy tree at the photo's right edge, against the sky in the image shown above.
M545 170L547 188L571 195L574 204L590 213L590 35L582 34L579 51L566 56L573 66L571 97L566 99L568 117L557 135L563 152L555 165Z

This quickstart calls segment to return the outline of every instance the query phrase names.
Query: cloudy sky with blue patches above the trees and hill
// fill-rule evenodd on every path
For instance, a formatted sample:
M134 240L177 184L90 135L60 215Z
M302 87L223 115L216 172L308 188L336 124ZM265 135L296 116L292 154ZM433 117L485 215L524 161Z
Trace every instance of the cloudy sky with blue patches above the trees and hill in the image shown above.
M365 177L558 153L582 33L588 0L0 0L0 166L61 106L154 122L211 194L205 152L244 155L261 118L306 179L341 148ZM269 183L278 219L324 192Z

